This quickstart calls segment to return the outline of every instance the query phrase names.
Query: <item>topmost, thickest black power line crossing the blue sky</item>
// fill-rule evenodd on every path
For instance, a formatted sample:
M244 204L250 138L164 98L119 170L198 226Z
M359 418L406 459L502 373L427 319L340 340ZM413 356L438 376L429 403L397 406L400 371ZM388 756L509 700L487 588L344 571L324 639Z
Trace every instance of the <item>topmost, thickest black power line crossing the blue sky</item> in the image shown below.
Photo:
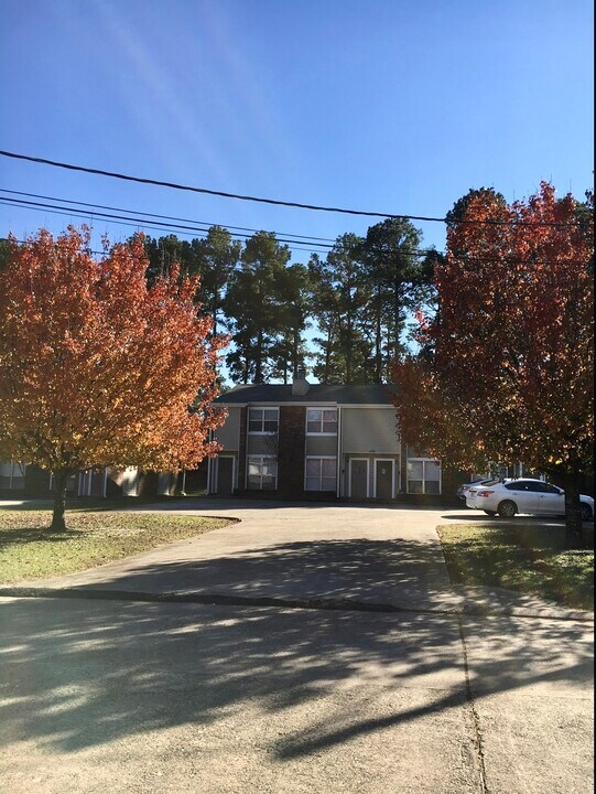
M173 190L181 190L181 191L188 191L192 193L204 193L207 195L215 195L220 196L223 198L237 198L239 201L250 201L250 202L258 202L260 204L273 204L275 206L288 206L288 207L295 207L299 210L313 210L315 212L333 212L333 213L343 213L345 215L361 215L367 217L381 217L381 218L401 218L405 221L432 221L436 223L448 223L447 218L445 217L431 217L425 215L398 215L395 213L379 213L379 212L370 212L365 210L346 210L345 207L333 207L333 206L323 206L318 204L302 204L300 202L289 202L289 201L281 201L278 198L263 198L261 196L250 196L250 195L241 195L238 193L226 193L224 191L216 191L210 190L207 187L195 187L192 185L183 185L178 184L176 182L163 182L161 180L153 180L148 179L144 176L132 176L130 174L123 174L119 173L117 171L105 171L104 169L93 169L88 168L86 165L74 165L73 163L64 163L59 162L57 160L47 160L45 158L35 158L31 157L30 154L19 154L15 152L9 152L4 150L0 150L0 154L2 157L13 158L15 160L26 160L28 162L35 162L41 163L43 165L53 165L54 168L62 168L67 169L68 171L82 171L84 173L90 173L90 174L97 174L100 176L110 176L112 179L119 179L119 180L126 180L128 182L138 182L141 184L151 184L156 185L160 187L170 187ZM457 221L457 223L460 224L479 224L479 225L490 225L490 226L546 226L546 227L568 227L568 226L578 226L579 224L564 224L564 223L554 223L554 222L546 222L546 221L537 221L537 222L530 222L530 221L490 221L490 219L484 219L484 221Z

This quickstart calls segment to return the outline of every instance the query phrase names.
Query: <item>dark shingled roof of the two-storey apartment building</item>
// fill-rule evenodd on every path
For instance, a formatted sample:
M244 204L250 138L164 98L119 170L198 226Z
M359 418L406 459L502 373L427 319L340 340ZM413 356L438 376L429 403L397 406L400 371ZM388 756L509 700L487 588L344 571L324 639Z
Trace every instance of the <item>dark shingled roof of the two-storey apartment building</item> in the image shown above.
M215 403L219 405L247 405L271 403L282 405L380 405L390 406L394 386L371 384L367 386L329 386L311 384L305 395L293 395L291 384L249 384L224 391Z

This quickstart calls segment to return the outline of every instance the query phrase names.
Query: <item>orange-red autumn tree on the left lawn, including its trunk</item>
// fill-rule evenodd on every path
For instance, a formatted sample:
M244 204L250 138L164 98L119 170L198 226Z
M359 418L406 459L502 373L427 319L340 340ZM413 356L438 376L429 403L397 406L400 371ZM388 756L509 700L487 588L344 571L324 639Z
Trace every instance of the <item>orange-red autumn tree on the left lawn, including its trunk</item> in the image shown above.
M217 447L212 320L173 265L148 286L141 237L95 258L89 232L11 242L0 272L0 459L52 471L52 528L79 469L194 468ZM197 397L198 395L198 397Z

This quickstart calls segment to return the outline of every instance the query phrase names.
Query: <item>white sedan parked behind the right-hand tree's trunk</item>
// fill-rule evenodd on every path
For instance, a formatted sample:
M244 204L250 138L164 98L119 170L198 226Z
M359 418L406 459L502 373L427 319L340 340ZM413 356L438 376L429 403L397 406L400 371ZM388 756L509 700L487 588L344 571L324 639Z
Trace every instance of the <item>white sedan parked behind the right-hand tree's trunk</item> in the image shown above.
M499 514L502 518L512 518L517 513L534 515L565 515L565 492L542 480L510 480L489 483L468 490L466 504L473 509L481 509L489 516ZM583 521L594 517L592 496L579 496Z

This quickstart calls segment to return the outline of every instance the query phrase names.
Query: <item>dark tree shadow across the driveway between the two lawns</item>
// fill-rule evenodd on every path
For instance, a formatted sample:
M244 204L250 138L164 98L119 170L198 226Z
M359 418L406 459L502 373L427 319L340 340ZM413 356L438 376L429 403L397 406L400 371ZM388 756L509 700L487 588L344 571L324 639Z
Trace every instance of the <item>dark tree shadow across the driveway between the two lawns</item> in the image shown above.
M412 540L305 540L230 551L204 559L97 568L84 587L131 592L219 593L236 597L349 599L408 604L449 588L438 545ZM192 554L192 551L191 551Z

